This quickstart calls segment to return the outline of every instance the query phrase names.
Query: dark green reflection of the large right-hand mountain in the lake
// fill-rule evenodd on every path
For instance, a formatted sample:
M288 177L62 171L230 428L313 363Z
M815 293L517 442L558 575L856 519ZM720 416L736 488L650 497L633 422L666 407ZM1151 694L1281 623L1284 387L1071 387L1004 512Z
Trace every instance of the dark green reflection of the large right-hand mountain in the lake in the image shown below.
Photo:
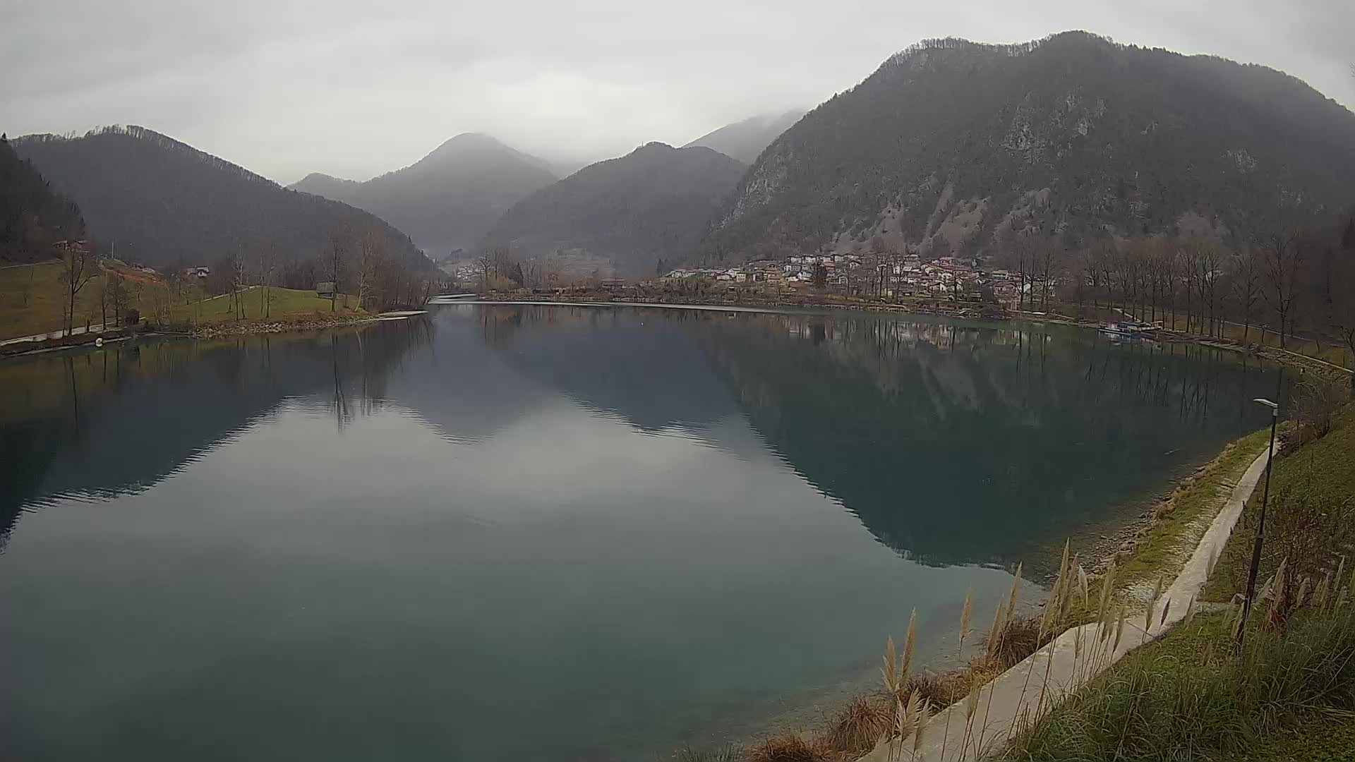
M1050 327L762 315L705 344L753 426L882 542L1015 559L1264 420L1274 376ZM1159 481L1160 484L1160 481Z

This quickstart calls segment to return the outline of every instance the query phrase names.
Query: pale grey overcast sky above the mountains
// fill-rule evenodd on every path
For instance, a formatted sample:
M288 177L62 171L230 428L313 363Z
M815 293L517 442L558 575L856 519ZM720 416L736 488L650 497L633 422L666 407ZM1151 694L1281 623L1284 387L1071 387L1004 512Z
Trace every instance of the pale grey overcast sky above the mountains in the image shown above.
M136 123L289 183L463 132L547 159L813 107L932 37L1085 28L1286 71L1355 106L1355 0L5 0L0 130Z

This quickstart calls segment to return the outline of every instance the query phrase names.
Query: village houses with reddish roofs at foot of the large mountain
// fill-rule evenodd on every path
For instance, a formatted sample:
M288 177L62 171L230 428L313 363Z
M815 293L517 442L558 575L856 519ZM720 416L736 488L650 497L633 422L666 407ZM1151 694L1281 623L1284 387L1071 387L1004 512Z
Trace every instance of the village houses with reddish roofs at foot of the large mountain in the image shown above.
M985 270L973 259L942 256L924 262L917 254L791 255L759 259L733 267L680 267L661 278L665 283L707 281L717 286L753 290L820 287L831 293L874 297L938 297L957 301L1015 302L1022 287L1018 274Z

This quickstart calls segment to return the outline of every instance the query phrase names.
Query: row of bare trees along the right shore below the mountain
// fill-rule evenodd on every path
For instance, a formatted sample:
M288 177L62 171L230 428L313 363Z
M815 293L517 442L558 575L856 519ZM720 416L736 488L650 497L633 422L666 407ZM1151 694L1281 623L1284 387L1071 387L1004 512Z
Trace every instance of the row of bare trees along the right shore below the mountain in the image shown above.
M1011 248L1020 305L1103 308L1243 343L1295 339L1355 355L1355 214L1331 228L1274 228L1248 240L1156 236L1065 247L1023 236Z

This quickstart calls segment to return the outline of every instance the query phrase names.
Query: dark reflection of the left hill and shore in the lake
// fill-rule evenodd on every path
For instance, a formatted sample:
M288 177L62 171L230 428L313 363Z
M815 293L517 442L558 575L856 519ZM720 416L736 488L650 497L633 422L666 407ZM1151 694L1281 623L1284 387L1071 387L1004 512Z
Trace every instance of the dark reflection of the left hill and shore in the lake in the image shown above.
M379 407L388 369L430 329L145 340L9 361L0 367L0 544L24 506L148 488L289 397L318 395L341 426Z

